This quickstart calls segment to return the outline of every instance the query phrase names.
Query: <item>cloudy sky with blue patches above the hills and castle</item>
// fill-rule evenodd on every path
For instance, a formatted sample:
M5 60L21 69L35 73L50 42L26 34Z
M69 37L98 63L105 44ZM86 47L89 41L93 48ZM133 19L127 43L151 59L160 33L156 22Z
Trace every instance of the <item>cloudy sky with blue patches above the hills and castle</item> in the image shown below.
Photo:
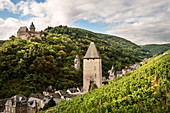
M133 43L170 43L170 0L0 0L0 40L34 22L36 30L67 25Z

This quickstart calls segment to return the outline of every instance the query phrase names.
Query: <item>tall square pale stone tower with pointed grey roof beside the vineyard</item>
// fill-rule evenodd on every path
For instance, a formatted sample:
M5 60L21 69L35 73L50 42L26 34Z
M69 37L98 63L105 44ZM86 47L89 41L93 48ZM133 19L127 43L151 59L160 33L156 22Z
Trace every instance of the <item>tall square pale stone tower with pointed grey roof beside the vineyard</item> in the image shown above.
M98 88L102 86L102 59L94 42L90 43L83 57L83 92L90 91L92 84L96 84Z

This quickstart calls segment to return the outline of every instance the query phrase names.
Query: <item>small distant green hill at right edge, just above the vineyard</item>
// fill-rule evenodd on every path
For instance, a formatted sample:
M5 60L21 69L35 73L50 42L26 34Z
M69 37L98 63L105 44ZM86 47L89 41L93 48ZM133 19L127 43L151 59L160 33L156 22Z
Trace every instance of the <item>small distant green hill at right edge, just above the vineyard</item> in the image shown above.
M170 49L170 44L147 44L141 45L144 49L151 51L153 54L162 54Z

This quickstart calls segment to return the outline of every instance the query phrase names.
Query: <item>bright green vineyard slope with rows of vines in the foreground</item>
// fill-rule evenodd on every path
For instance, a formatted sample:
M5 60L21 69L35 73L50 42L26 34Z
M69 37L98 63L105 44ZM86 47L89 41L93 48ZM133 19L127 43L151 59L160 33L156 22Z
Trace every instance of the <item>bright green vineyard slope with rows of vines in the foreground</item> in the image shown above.
M168 112L169 66L170 54L159 55L134 73L42 113Z

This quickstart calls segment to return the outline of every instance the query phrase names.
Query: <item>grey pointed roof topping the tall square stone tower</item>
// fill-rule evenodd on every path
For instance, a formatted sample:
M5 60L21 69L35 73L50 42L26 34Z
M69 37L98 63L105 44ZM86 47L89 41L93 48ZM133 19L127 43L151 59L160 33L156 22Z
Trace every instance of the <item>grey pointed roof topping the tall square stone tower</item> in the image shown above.
M101 58L99 56L99 53L96 49L96 46L94 44L94 42L90 43L90 46L86 52L86 55L83 57L84 59L89 59L89 58Z

